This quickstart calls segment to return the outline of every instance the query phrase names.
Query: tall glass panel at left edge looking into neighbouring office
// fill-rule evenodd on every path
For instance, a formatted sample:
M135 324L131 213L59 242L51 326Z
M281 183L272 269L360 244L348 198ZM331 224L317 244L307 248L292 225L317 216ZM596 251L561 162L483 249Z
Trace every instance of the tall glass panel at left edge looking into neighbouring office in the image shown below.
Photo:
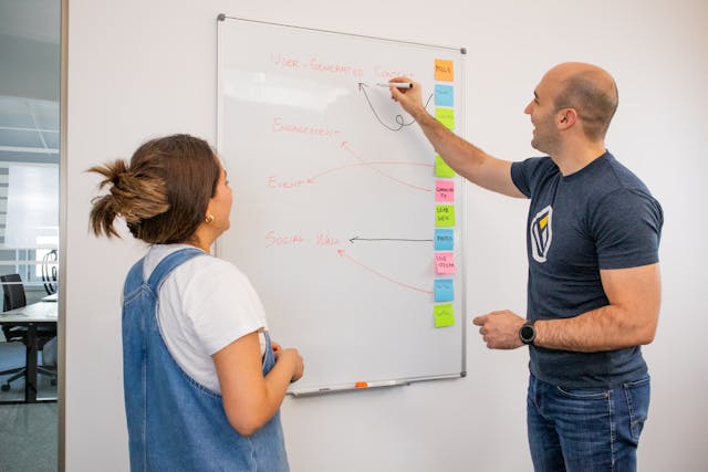
M0 0L0 471L58 470L61 0Z

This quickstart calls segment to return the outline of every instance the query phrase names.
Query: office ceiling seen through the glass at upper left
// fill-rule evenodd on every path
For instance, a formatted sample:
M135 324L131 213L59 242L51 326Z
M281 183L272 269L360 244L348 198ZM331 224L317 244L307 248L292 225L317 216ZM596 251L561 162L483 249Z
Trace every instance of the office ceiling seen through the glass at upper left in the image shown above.
M0 165L59 162L61 0L0 0Z

